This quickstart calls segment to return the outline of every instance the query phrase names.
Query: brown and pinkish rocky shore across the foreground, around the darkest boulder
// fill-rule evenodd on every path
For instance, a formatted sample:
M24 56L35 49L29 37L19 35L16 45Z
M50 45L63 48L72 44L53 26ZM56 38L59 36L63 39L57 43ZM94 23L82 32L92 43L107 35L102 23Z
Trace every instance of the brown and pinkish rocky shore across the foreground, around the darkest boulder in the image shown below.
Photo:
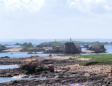
M21 59L22 61L32 61L34 58ZM1 58L4 60L6 58ZM9 58L7 58L9 60ZM9 62L12 59L9 60ZM15 59L16 61L17 59ZM110 75L111 66L109 65L90 65L80 66L82 60L71 57L46 57L39 59L42 63L54 65L54 72L41 72L38 74L26 74L20 68L0 70L0 77L18 77L21 78L39 78L46 77L46 80L16 80L0 83L0 86L112 86L112 77ZM14 60L13 60L14 61ZM15 64L13 63L12 64ZM11 62L10 62L11 63ZM18 63L19 64L19 63ZM96 69L97 67L97 69Z

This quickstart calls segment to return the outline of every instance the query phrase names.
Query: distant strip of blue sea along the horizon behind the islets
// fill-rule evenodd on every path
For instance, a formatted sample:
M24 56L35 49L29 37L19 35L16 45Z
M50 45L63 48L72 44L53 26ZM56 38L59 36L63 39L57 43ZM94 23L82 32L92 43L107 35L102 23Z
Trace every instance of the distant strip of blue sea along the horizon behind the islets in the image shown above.
M34 45L38 45L42 42L51 42L51 41L70 41L70 38L67 39L16 39L16 40L0 40L0 44L5 45L14 45L15 43L24 43L31 42ZM112 39L72 39L72 41L82 41L82 42L112 42Z

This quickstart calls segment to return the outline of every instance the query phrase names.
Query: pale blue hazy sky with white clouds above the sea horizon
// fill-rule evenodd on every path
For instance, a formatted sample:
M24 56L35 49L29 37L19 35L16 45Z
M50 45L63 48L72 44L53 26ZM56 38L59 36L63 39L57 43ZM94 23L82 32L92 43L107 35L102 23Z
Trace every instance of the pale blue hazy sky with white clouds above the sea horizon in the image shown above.
M112 39L112 0L0 0L0 39Z

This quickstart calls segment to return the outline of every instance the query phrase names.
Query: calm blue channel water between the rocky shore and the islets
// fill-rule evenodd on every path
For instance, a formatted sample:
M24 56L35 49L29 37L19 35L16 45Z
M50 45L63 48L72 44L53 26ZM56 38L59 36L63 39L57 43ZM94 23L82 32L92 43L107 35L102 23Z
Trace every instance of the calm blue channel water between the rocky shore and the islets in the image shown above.
M112 45L105 45L106 53L112 54ZM86 50L86 48L82 48L82 50ZM52 56L56 56L57 54L52 54ZM0 57L11 57L11 58L26 58L30 56L40 56L40 57L46 57L49 56L49 54L45 54L42 52L37 52L36 54L29 54L28 52L2 52L0 53Z

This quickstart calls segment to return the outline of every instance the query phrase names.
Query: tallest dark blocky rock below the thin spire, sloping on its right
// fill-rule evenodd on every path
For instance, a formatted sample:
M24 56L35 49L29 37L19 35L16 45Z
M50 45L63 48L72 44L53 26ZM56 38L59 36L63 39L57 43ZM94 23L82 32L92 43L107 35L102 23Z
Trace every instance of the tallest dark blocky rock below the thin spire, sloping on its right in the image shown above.
M80 52L80 47L78 48L73 42L65 43L65 54L77 54Z

